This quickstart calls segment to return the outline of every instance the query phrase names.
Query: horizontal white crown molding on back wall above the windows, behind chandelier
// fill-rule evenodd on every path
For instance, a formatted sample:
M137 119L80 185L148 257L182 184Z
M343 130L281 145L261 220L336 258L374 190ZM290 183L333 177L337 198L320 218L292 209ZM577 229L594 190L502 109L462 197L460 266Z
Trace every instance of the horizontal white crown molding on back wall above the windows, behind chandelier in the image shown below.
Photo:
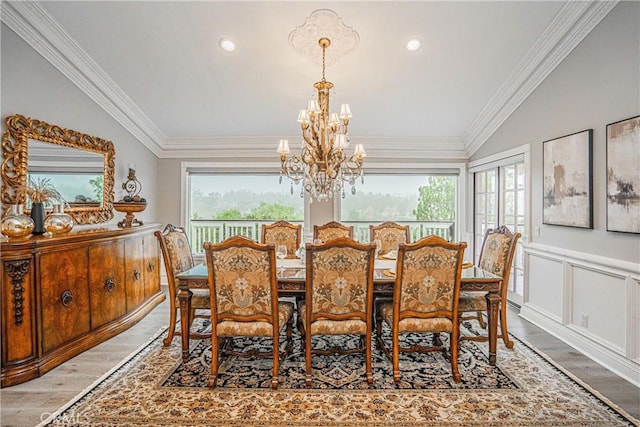
M167 138L160 158L271 158L283 136ZM289 135L290 141L300 135ZM351 144L363 144L367 159L463 159L468 156L460 138L391 138L352 136ZM213 148L215 147L215 148ZM293 145L292 145L293 148Z

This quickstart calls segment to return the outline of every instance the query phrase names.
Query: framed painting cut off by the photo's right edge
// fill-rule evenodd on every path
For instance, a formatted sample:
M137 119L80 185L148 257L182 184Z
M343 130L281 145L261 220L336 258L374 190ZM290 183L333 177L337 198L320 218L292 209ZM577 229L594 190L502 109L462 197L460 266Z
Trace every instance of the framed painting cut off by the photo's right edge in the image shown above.
M640 234L640 116L607 125L607 231Z

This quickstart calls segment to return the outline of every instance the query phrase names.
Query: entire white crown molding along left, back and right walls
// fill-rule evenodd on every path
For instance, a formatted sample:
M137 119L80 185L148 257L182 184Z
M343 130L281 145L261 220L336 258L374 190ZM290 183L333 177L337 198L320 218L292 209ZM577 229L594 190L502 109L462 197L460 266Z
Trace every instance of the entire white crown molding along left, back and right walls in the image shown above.
M618 0L565 3L462 137L352 137L352 141L365 144L371 158L468 159L617 3ZM277 141L279 137L167 138L37 2L0 4L1 19L9 28L159 158L255 157L272 156L275 152L266 141Z

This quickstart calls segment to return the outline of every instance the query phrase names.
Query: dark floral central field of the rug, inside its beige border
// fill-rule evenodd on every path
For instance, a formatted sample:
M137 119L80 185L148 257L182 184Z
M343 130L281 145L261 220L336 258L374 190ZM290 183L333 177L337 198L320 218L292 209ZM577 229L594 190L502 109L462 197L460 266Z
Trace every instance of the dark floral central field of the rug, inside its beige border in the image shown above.
M470 324L467 324L470 326ZM471 329L469 332L475 332ZM385 325L383 338L391 347L391 333ZM419 335L409 334L403 337L401 345L430 345L423 342ZM448 348L448 336L442 335L444 346ZM270 339L235 339L234 347L260 350L268 348ZM355 348L358 337L314 337L313 348L329 347ZM486 350L487 345L482 349ZM441 352L428 354L402 354L400 369L402 380L395 385L393 370L387 356L374 344L372 352L374 382L371 387L365 376L364 355L314 355L312 368L313 388L334 390L360 389L517 389L517 384L500 369L489 365L489 360L481 347L471 341L463 341L460 346L458 364L462 382L456 384L451 376L451 364L448 355ZM216 387L223 388L269 388L271 386L271 359L229 357L218 368ZM186 364L178 363L175 371L163 383L165 387L206 387L211 370L211 341L202 340L191 351ZM305 388L304 342L300 334L294 334L293 352L281 363L279 388Z

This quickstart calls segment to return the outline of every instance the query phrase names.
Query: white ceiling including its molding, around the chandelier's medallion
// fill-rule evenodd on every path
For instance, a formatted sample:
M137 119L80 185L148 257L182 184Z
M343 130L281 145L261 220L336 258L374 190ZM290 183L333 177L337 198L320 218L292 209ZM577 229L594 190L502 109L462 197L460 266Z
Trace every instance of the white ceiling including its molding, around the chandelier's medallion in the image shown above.
M615 4L2 3L10 28L159 157L273 154L300 139L296 116L322 70L288 37L331 9L360 38L326 70L332 111L353 111L352 141L374 157L434 158L473 154ZM237 49L222 51L222 37Z

